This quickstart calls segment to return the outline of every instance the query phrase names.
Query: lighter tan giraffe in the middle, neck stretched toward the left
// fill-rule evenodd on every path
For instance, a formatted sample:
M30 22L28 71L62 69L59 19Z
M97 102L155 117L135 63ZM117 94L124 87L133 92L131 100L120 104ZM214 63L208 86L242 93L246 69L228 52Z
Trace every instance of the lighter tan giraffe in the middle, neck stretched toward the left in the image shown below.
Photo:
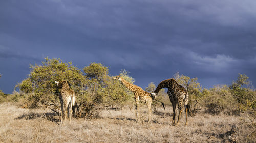
M148 123L151 121L151 104L155 101L155 96L151 95L144 91L141 87L133 85L126 80L124 80L121 75L117 75L113 78L114 80L119 80L127 89L134 93L134 100L135 100L135 114L136 114L136 121L140 122L140 112L139 112L139 103L146 103L148 108Z

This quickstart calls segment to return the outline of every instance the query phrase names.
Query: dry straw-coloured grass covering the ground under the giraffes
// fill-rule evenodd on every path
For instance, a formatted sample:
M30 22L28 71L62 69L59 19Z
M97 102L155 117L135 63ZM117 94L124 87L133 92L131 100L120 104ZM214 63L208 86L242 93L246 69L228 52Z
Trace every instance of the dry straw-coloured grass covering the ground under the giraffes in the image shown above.
M232 125L239 128L238 142L255 142L252 129L237 116L196 115L188 126L172 126L172 108L159 109L147 123L135 122L134 108L103 110L98 119L74 119L59 126L56 115L48 110L17 108L0 104L0 142L225 142Z

